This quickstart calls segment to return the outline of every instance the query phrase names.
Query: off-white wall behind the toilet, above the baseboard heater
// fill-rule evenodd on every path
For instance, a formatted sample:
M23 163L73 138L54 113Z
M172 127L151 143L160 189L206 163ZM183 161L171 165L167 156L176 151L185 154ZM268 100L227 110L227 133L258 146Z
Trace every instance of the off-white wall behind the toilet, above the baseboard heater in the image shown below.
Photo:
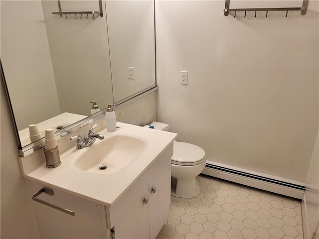
M304 16L267 18L226 17L224 5L156 1L158 120L207 160L305 182L318 132L318 1ZM188 85L180 85L180 71L188 71Z

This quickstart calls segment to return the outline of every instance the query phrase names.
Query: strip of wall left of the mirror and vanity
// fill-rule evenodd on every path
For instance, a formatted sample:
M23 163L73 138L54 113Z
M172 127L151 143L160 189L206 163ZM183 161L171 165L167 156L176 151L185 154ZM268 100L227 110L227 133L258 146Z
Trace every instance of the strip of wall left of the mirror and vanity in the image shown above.
M36 226L17 160L17 140L1 79L1 227L3 239L36 239Z

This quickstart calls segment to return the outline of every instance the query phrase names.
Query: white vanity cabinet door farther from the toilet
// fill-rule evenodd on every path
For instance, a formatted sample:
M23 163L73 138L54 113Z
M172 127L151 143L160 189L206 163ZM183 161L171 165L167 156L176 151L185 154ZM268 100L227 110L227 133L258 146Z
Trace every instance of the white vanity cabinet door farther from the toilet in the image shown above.
M147 203L144 201L146 200ZM116 239L149 238L149 202L148 188L134 200L128 211L115 224Z

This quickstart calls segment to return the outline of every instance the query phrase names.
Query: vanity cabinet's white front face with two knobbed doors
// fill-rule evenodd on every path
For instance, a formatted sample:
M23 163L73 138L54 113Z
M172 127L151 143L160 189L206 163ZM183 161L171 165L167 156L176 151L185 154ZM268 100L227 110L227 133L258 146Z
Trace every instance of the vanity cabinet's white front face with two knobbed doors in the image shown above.
M170 211L170 163L172 147L165 150L151 168L130 188L115 207L110 208L115 238L155 239ZM130 205L128 199L135 199ZM127 205L130 205L129 207ZM121 209L122 210L121 210Z

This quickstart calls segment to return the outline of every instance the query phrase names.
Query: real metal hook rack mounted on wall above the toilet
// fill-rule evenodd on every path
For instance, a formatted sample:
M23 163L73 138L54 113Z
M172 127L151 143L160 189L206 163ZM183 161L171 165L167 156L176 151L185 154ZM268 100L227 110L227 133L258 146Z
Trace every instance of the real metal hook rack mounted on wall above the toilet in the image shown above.
M254 11L255 17L257 16L257 11L266 11L266 17L268 16L268 11L286 11L286 17L288 16L288 11L301 11L302 15L306 15L308 2L309 0L304 0L302 7L229 8L230 0L225 0L224 15L228 16L231 11L234 12L234 17L236 17L237 11L244 11L244 17L246 17L247 11Z

